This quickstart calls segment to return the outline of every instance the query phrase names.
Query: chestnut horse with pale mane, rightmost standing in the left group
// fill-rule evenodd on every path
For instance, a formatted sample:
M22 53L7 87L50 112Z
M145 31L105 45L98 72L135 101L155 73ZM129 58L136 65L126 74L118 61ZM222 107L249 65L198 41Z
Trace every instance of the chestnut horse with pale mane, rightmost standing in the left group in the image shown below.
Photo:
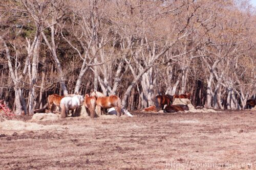
M105 96L99 91L93 91L91 96L96 98L96 113L100 116L101 108L109 109L114 107L117 116L121 116L121 99L116 95Z

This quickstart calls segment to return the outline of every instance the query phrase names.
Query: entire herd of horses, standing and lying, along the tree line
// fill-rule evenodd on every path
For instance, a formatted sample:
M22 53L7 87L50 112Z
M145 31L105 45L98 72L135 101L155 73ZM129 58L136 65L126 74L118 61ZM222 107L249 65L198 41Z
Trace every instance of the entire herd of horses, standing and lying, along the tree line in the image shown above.
M157 95L155 97L155 106L150 106L144 111L159 111L163 110L164 113L178 112L189 110L187 105L173 105L175 99L190 99L191 94L175 94L175 95ZM86 107L87 113L90 117L95 117L101 115L101 111L105 112L106 109L115 108L117 116L121 116L121 100L117 95L105 96L99 91L93 91L91 95L86 94L84 97L79 94L68 94L65 96L60 96L57 94L52 94L48 96L47 99L48 108L53 112L53 105L59 108L61 111L60 117L67 117L69 110L72 110L72 116L74 116L74 111L79 108L82 104ZM166 107L164 108L164 106ZM246 102L246 107L254 107L256 105L256 99L249 99ZM130 114L130 116L132 116Z

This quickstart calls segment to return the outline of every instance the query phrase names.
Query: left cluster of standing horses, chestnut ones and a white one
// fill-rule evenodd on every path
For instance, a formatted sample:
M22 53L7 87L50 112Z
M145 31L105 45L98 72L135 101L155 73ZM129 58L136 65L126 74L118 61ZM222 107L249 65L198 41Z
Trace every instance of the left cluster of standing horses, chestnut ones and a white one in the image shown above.
M65 118L69 114L69 110L72 110L72 116L74 111L81 105L86 107L87 113L90 117L95 117L95 113L100 116L101 110L114 107L117 116L121 116L121 100L116 95L105 96L99 91L94 91L91 95L86 94L84 97L79 94L68 94L60 96L58 94L51 94L48 96L47 105L51 112L53 112L53 105L59 108L60 117Z

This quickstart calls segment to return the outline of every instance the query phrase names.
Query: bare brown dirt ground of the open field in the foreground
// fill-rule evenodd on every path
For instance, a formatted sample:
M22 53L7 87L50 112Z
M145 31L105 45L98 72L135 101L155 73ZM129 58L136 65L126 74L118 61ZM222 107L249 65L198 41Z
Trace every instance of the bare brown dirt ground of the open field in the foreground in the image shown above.
M0 128L0 169L256 169L256 111L133 114Z

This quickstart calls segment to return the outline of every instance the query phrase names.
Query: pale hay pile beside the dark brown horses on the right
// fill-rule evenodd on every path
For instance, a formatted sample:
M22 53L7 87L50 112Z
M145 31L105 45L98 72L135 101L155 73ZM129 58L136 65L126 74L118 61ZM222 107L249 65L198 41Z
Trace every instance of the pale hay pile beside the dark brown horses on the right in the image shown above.
M188 106L188 111L186 112L203 112L203 113L208 113L208 112L218 112L214 109L196 109L192 104L189 99L175 99L173 105L187 105Z

